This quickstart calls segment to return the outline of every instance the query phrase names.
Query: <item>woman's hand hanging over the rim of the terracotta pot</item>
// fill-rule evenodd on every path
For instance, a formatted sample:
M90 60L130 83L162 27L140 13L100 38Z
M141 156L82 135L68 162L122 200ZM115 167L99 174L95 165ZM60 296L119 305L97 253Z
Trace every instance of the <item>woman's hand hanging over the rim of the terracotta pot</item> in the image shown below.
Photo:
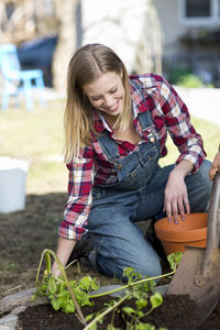
M191 169L193 165L188 161L182 161L169 174L164 196L164 211L169 222L174 217L174 222L177 224L178 213L182 220L185 220L185 212L190 213L185 176Z

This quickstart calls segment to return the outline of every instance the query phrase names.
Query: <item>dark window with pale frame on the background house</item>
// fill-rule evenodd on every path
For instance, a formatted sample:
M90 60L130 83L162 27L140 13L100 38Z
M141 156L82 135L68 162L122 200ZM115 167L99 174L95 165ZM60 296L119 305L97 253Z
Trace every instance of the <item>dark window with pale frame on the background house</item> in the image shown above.
M185 25L220 26L220 0L179 0L179 13Z

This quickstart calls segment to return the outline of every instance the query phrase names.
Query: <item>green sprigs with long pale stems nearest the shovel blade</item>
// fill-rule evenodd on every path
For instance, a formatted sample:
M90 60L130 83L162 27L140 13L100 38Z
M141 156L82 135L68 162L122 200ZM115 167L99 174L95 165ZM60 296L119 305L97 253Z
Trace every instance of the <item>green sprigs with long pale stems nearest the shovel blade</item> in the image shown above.
M112 320L111 323L108 326L107 330L116 330L113 327L113 317L117 312L118 307L124 301L129 300L131 298L135 298L135 304L136 304L136 310L132 309L130 307L124 307L123 311L127 315L132 316L132 321L130 324L128 324L128 330L155 330L154 326L151 326L148 323L143 323L141 322L141 318L144 316L147 316L153 311L153 309L160 307L163 304L163 296L160 293L154 293L153 295L150 296L150 293L154 290L154 287L156 286L156 279L166 277L166 276L172 276L175 274L176 268L178 264L180 263L182 260L182 252L175 252L168 255L167 260L169 262L169 266L172 268L172 272L155 276L155 277L148 277L148 278L142 278L141 274L138 272L134 272L134 268L132 267L127 267L123 271L123 277L127 278L128 284L124 286L121 286L120 288L113 289L108 293L99 294L99 295L92 295L91 297L100 297L105 295L110 295L113 294L118 290L124 290L125 296L119 299L119 301L114 301L108 306L107 309L103 309L103 311L99 311L97 314L91 314L87 316L86 320L91 322L84 329L84 330L97 330L97 323L102 322L103 317L107 316L109 312L112 312ZM150 296L150 301L151 301L151 308L148 311L143 312L142 309L146 307L147 305L147 298ZM158 330L166 330L165 328L160 328Z

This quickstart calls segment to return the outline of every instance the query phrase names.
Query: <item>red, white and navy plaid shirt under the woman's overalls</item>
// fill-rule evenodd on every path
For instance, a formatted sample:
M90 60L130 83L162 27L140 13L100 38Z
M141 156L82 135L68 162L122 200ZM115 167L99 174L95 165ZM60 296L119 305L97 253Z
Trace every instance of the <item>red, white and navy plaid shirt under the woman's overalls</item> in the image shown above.
M194 164L194 172L198 170L206 157L202 140L190 124L188 109L174 88L163 77L150 74L131 76L130 91L133 105L133 123L142 136L140 143L147 141L147 131L145 133L142 131L138 114L150 111L161 145L161 157L167 154L165 143L168 132L180 153L176 163L187 160ZM94 120L98 133L108 130L110 136L116 140L111 128L96 110ZM133 145L127 141L116 140L116 142L122 157L140 146L140 143ZM86 231L92 201L92 186L113 184L117 180L117 174L95 136L91 145L85 147L80 152L79 158L73 160L67 164L67 167L69 169L69 197L64 211L64 219L59 226L59 235L77 240Z

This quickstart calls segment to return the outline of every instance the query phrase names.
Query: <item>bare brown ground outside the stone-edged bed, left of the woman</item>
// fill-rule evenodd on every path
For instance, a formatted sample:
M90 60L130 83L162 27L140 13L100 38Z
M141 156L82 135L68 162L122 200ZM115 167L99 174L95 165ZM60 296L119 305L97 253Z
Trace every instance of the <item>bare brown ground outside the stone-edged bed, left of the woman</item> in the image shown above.
M24 210L0 213L0 299L35 286L42 252L56 250L66 200L63 193L28 195ZM88 262L80 263L80 277L89 273L99 277L102 285L109 282L94 272ZM69 272L77 278L77 266Z

